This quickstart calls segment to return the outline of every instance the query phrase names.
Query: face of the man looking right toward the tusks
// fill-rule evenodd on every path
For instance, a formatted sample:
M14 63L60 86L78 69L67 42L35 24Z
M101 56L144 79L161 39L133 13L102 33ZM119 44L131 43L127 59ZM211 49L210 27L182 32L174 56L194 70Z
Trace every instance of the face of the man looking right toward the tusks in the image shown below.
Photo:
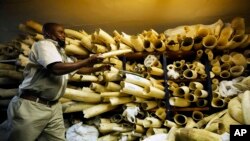
M60 47L65 46L65 32L62 26L55 26L51 32L52 39L57 41Z

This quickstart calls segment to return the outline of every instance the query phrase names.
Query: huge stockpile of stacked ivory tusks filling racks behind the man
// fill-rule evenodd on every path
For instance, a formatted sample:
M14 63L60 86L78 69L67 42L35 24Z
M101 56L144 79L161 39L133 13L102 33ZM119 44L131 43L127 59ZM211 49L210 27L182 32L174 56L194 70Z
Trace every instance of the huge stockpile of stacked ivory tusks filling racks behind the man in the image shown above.
M17 39L0 44L1 107L17 94L31 46L43 39L36 21L19 29ZM112 65L69 78L60 99L68 139L88 125L97 129L98 141L220 141L229 138L230 125L250 124L250 34L244 18L163 33L65 33L67 55L80 60L99 53L105 59L94 67Z

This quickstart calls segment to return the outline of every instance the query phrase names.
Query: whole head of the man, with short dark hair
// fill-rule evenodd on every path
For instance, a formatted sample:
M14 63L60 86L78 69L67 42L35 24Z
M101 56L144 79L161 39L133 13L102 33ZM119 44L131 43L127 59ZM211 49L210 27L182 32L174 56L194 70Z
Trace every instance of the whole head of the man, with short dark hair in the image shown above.
M65 46L64 27L57 23L45 23L43 25L43 36L58 42L60 47Z

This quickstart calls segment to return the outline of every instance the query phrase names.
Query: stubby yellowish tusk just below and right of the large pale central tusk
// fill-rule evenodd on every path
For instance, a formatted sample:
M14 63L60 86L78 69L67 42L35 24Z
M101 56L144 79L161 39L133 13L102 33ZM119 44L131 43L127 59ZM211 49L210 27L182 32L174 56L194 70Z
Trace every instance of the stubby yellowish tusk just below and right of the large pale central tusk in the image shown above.
M144 91L144 95L148 97L154 97L157 99L163 99L165 97L165 92L163 90L160 90L153 86L145 87Z

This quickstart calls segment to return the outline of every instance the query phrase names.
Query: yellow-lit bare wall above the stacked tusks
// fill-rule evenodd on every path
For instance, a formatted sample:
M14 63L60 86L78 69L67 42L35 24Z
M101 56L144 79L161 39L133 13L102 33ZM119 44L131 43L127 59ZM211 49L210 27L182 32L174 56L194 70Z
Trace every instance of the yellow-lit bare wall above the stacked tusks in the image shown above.
M29 19L58 22L88 33L102 28L129 34L153 28L163 32L184 24L211 24L235 16L250 25L248 0L1 0L0 42L18 35Z

